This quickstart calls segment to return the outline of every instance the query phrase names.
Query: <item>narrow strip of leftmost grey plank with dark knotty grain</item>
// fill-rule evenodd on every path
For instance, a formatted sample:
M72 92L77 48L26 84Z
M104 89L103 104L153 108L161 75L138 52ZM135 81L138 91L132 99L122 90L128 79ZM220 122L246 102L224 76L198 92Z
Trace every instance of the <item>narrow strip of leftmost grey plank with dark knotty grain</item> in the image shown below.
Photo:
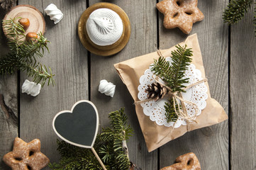
M0 18L4 18L6 11L0 9ZM2 30L0 26L0 30ZM1 55L8 52L4 33L0 33ZM11 151L13 140L18 136L18 98L17 73L0 76L0 169L9 169L2 161L4 154Z

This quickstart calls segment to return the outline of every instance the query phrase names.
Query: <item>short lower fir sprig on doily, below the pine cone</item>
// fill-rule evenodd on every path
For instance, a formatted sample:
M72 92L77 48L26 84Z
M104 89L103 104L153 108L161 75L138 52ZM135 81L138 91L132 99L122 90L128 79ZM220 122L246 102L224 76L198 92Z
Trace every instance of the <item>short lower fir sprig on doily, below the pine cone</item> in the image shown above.
M179 118L178 115L175 113L175 109L176 111L178 111L179 106L175 104L175 107L176 108L174 108L173 98L169 98L169 103L165 102L165 116L166 116L167 123L176 122L177 119Z

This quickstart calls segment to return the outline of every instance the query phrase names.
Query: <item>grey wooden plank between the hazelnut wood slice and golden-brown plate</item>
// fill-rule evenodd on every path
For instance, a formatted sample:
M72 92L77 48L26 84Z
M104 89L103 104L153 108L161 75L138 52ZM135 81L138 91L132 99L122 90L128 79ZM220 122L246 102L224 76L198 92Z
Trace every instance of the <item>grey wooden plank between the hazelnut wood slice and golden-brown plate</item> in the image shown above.
M86 8L86 1L72 0L21 0L19 4L30 4L40 11L54 3L64 18L55 25L45 16L47 30L45 37L50 40L50 54L45 53L42 63L52 68L56 86L45 86L37 97L21 94L21 138L26 142L35 138L41 141L41 151L57 162L57 135L52 130L52 118L62 110L70 110L81 99L88 99L87 50L79 41L77 24ZM26 75L21 75L21 84Z

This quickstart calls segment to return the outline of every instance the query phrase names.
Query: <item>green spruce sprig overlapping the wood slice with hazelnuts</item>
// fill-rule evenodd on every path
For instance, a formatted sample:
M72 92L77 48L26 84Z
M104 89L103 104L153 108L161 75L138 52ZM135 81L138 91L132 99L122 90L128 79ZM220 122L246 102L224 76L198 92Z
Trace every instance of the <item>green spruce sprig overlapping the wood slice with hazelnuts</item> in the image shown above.
M24 41L25 30L16 20L18 18L3 21L10 52L0 57L0 74L13 74L16 69L19 69L26 72L28 77L33 77L36 84L41 83L44 86L48 81L48 85L54 85L55 75L52 74L50 67L37 62L38 57L43 57L45 49L48 50L49 41L43 37L42 33L38 34L36 42Z

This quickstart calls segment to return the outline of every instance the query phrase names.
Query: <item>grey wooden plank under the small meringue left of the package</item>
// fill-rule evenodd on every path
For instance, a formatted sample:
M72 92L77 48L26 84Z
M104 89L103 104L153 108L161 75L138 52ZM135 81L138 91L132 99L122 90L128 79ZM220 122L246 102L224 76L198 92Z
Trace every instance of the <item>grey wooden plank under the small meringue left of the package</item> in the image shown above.
M92 5L97 0L90 0ZM99 57L91 55L91 101L99 110L100 124L108 125L108 113L121 107L126 108L126 114L134 135L128 141L130 161L142 169L157 169L157 151L148 153L143 134L140 130L138 118L135 113L133 99L128 89L119 78L113 64L144 55L157 50L157 13L155 1L108 1L121 6L130 18L131 35L128 45L116 55ZM116 84L116 94L113 98L100 94L99 81L106 79Z

